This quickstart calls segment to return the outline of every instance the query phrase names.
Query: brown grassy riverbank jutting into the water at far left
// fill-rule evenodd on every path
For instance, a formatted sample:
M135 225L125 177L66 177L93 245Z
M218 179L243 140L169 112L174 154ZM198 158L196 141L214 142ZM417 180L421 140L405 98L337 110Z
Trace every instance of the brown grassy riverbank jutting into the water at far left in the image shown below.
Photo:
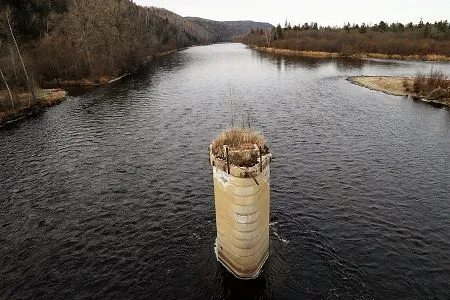
M34 115L46 107L59 104L66 96L67 92L62 89L39 89L36 90L36 101L33 101L31 93L15 93L13 94L14 108L0 111L0 127ZM6 106L5 103L10 105L10 101L8 93L0 93L0 104L3 104L3 107Z

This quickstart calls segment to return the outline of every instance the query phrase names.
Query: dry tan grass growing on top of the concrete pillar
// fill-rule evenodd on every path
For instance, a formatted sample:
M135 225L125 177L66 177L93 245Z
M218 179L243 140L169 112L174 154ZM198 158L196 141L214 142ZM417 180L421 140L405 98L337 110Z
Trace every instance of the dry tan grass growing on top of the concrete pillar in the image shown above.
M231 164L251 167L258 163L259 151L255 151L255 144L261 148L262 155L269 153L267 141L261 133L250 128L230 128L212 142L211 151L215 157L226 160L226 145Z

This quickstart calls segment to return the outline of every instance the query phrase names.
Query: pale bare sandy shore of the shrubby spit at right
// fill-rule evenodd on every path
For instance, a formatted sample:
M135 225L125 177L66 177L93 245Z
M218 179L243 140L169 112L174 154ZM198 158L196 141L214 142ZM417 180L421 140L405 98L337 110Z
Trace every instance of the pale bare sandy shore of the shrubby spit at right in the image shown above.
M394 76L351 76L347 80L358 86L374 91L380 91L393 96L406 96L420 99L437 105L450 106L450 99L431 99L428 95L419 95L410 91L407 87L414 82L414 77L394 77Z

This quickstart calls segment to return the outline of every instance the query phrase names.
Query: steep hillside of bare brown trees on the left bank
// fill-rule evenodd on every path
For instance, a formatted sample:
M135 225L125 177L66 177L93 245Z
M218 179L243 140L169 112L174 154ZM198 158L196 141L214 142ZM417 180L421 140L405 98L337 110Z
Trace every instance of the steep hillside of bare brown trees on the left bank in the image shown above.
M8 21L33 84L107 80L136 70L158 53L213 41L198 24L128 0L8 1L0 12L0 63L13 89L25 87L25 78L17 76L19 53L11 52Z

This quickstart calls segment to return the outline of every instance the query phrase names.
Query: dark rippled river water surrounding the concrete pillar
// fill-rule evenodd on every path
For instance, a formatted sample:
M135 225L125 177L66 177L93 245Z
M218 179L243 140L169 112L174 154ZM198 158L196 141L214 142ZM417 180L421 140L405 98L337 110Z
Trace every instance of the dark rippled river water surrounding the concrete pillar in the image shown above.
M431 67L195 47L0 129L0 298L448 299L450 112L346 81ZM214 254L229 90L275 156L252 281Z

